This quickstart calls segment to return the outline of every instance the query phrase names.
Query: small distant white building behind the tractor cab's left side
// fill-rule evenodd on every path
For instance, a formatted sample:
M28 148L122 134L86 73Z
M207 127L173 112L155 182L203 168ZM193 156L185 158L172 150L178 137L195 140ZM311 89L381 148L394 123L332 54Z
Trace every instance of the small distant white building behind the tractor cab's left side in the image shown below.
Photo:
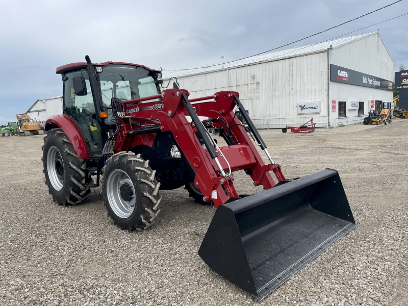
M34 121L40 122L45 122L50 116L61 115L62 96L38 99L25 113Z

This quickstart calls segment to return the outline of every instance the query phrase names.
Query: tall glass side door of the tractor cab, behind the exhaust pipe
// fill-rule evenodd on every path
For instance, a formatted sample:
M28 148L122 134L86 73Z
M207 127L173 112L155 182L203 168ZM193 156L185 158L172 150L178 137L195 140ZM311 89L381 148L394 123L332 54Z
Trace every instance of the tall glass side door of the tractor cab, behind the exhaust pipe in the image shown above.
M72 79L73 77L81 77L81 75L85 78L87 94L78 96L75 95ZM82 137L87 143L89 156L101 157L103 150L101 128L96 120L97 114L86 70L65 74L64 106L64 114L69 116L79 127Z

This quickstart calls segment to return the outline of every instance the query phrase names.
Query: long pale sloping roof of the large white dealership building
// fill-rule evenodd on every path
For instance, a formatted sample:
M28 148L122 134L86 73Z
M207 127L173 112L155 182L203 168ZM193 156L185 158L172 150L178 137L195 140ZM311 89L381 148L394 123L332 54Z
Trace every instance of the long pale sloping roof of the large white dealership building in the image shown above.
M280 50L280 51L271 52L271 53L254 55L254 56L251 56L245 59L241 59L241 60L237 60L237 61L233 61L230 63L211 65L211 67L207 66L207 67L200 67L196 69L181 70L181 71L164 70L163 79L169 79L171 77L178 78L178 77L184 77L187 75L201 74L201 73L206 73L206 72L214 72L216 70L231 69L234 67L246 66L246 65L251 65L251 64L260 63L260 62L271 62L271 61L277 61L277 60L282 60L282 59L291 58L291 57L297 57L301 55L324 52L325 50L330 48L330 45L333 46L333 48L337 48L345 44L348 44L350 42L360 40L360 39L363 39L365 37L375 35L375 34L377 34L377 32L370 32L370 33L361 34L361 35L344 37L344 38L339 38L339 39L334 39L334 40L327 40L327 41L323 41L323 42L319 42L319 43L315 43L315 44L311 44L307 46L300 46L300 47Z

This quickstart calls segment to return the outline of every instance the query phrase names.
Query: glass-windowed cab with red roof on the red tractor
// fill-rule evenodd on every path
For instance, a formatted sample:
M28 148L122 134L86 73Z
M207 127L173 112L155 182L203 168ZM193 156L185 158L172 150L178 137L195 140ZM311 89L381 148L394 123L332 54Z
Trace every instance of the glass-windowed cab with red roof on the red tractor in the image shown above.
M63 112L77 125L92 157L102 156L108 133L116 130L112 98L129 101L161 92L161 72L137 64L89 61L58 67L57 73L64 82Z

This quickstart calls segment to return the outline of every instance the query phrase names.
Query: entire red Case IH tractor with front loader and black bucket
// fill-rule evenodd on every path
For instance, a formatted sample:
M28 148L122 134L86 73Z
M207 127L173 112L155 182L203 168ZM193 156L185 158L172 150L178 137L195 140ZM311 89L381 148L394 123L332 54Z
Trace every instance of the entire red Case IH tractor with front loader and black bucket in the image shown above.
M122 229L145 230L165 205L159 191L186 185L217 209L199 256L258 300L356 226L338 172L285 179L237 92L189 99L177 86L161 91L158 70L85 59L57 68L64 114L45 126L45 179L60 205L84 202L103 174L108 215ZM217 145L198 116L220 129L227 146ZM265 190L240 196L238 170Z

